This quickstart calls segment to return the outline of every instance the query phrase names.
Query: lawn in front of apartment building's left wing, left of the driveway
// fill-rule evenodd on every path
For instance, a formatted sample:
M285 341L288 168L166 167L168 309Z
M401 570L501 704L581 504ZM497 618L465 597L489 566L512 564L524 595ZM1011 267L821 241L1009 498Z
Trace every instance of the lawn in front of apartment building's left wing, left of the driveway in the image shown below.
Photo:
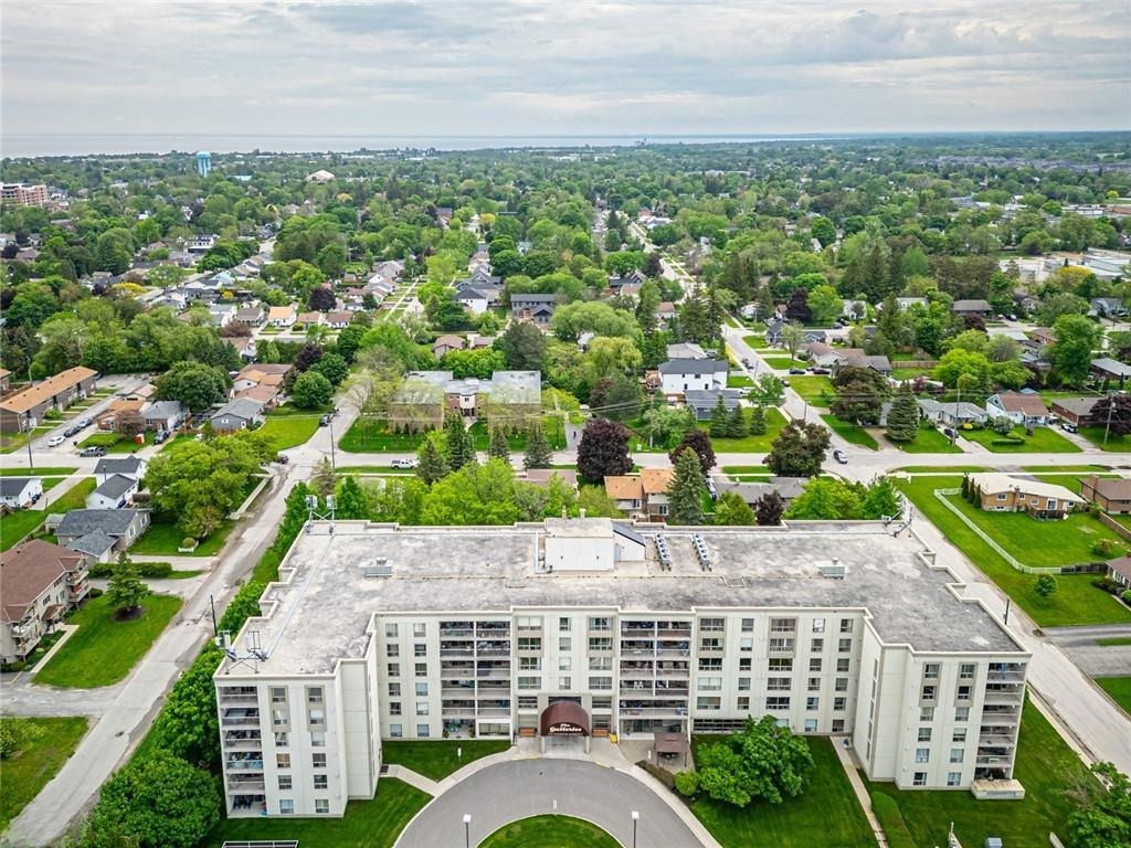
M342 819L224 819L202 842L295 839L305 848L391 848L400 831L432 799L395 778L381 778L372 801L351 801ZM278 813L277 810L271 811Z

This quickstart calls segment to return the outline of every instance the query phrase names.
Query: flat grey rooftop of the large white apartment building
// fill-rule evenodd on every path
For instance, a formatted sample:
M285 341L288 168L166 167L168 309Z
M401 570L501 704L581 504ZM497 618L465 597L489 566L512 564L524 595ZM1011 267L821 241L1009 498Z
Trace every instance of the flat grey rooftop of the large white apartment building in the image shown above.
M622 613L689 613L719 607L867 609L886 643L918 651L1021 651L985 608L961 600L948 570L930 564L908 533L880 522L805 522L789 528L697 528L714 565L705 571L690 528L629 525L646 539L646 559L608 571L539 570L547 531L607 536L607 519L513 527L396 527L364 521L313 522L295 542L280 583L265 592L265 617L249 633L268 652L260 674L328 674L360 658L379 613L456 615L517 607L607 607ZM602 522L603 527L596 525ZM671 569L655 538L664 535ZM838 560L843 579L823 577ZM231 664L223 668L228 670ZM235 667L233 674L250 674Z

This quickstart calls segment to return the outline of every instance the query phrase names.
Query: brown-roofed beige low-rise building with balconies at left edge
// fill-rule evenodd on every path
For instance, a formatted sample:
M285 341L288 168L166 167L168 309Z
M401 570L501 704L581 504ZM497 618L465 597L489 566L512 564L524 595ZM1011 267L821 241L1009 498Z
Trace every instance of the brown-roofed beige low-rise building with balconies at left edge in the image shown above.
M15 663L90 590L89 559L44 539L0 553L0 660Z

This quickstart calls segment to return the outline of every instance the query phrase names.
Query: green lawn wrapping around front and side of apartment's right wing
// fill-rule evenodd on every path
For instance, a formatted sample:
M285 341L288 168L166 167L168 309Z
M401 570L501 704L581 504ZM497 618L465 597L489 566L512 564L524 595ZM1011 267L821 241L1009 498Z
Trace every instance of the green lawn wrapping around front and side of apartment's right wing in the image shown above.
M946 845L951 822L968 848L984 845L986 837L1001 837L1009 848L1047 846L1050 831L1068 838L1069 813L1098 789L1080 758L1028 702L1013 777L1025 786L1024 801L977 801L968 791L900 791L893 784L869 788L896 801L921 848Z

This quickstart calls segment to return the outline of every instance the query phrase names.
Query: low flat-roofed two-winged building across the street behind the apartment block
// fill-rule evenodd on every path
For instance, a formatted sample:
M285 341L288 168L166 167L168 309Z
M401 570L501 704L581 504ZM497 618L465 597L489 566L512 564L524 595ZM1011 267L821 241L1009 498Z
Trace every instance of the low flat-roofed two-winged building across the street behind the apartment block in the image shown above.
M542 375L495 371L490 380L457 380L450 371L409 371L389 404L389 427L432 430L443 424L449 412L520 427L541 415Z

